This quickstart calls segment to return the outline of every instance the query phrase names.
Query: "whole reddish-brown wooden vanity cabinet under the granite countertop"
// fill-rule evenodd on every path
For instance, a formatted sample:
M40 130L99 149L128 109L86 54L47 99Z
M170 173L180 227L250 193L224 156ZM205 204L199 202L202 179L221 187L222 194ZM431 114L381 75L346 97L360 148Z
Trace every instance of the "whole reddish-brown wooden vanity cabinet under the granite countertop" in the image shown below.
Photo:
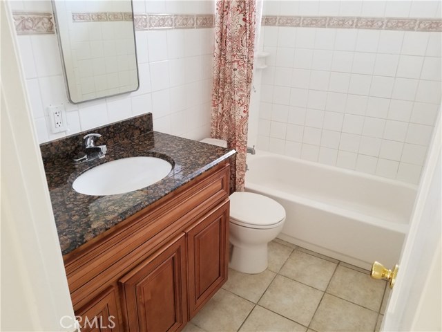
M64 257L81 331L180 331L227 281L224 162ZM84 326L84 324L81 324Z

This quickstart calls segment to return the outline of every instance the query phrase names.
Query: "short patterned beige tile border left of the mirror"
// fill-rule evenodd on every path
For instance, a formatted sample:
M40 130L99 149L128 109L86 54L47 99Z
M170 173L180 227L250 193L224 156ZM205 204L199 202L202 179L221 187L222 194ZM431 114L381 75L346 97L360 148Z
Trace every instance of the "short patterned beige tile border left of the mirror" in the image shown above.
M14 12L17 35L55 33L52 12Z

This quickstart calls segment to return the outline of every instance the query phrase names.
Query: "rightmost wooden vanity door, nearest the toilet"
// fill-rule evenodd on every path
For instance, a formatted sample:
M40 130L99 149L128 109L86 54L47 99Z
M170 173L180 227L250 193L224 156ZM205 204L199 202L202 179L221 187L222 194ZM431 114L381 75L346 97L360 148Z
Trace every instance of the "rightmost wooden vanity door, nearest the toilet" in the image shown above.
M186 231L191 319L227 281L229 201Z

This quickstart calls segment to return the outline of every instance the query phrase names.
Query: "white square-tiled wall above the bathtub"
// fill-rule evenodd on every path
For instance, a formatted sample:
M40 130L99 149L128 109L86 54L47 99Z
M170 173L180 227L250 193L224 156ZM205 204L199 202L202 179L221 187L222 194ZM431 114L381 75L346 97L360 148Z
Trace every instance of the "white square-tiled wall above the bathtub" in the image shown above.
M265 1L263 15L441 17L439 1ZM419 183L441 33L263 26L258 149Z

